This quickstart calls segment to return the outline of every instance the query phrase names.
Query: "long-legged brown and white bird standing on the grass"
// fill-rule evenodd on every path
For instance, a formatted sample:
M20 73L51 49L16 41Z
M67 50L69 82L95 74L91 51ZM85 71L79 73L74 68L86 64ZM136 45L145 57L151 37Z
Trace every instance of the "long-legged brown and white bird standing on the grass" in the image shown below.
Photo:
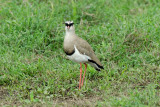
M97 71L104 69L103 65L101 64L100 60L96 57L89 43L76 35L73 21L65 22L65 37L63 42L63 49L68 59L70 59L73 62L80 63L79 89L81 89L81 87L83 86L85 73L87 70L87 64L90 64ZM82 64L85 65L83 78Z

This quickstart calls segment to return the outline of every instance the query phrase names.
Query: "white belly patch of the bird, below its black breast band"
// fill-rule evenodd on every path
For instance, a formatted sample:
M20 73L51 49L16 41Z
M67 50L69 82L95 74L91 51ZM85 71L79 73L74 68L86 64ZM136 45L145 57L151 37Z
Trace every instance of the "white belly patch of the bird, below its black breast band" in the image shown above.
M85 54L81 54L78 49L76 48L76 46L74 45L74 49L75 52L73 55L68 56L68 58L74 62L78 62L78 63L86 63L88 62L88 59L91 59L89 56L85 55Z

